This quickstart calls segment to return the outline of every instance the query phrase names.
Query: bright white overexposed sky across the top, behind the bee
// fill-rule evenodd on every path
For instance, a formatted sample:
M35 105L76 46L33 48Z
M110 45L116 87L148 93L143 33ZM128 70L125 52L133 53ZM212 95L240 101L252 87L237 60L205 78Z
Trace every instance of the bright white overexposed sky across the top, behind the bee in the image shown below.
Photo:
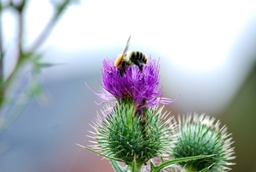
M27 48L51 14L49 1L31 0L26 14ZM195 107L219 111L255 62L255 21L256 1L81 0L63 15L42 49L47 51L46 61L73 62L65 71L50 75L55 79L67 76L65 72L90 72L95 59L114 58L122 52L131 35L131 49L160 56L166 96L182 93L177 106L185 105L183 111ZM13 14L4 14L3 23L4 46L11 58L15 52ZM76 55L83 52L84 58ZM6 72L11 68L8 63Z

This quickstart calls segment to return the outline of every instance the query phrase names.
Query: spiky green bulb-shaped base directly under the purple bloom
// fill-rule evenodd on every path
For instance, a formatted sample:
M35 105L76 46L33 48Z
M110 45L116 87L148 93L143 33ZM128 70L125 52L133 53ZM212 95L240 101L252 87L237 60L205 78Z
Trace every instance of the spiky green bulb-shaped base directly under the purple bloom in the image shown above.
M96 130L93 147L130 167L136 162L140 169L148 159L170 152L172 118L165 121L168 114L161 110L145 108L138 114L132 100L122 100L92 126Z

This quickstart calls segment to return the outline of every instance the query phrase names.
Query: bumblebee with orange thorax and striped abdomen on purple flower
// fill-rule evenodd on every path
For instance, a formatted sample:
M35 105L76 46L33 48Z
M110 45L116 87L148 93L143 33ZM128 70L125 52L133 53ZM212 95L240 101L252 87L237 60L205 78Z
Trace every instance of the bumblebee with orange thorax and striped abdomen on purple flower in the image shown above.
M143 64L147 64L148 60L147 56L140 51L130 51L126 54L130 46L130 40L131 36L128 38L123 54L119 54L114 62L114 66L119 68L119 74L121 77L125 74L127 66L136 65L139 70L143 72Z

